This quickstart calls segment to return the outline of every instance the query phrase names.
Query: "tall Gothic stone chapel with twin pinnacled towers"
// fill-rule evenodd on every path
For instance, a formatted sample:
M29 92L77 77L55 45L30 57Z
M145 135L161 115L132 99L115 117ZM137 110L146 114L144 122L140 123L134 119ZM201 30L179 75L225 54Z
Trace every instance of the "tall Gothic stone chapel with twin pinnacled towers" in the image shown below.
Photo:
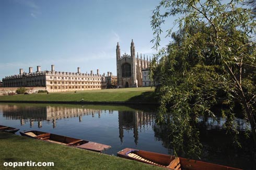
M117 82L121 88L143 87L142 69L149 68L150 58L148 60L135 56L135 46L132 40L131 55L123 54L121 56L119 43L117 45Z

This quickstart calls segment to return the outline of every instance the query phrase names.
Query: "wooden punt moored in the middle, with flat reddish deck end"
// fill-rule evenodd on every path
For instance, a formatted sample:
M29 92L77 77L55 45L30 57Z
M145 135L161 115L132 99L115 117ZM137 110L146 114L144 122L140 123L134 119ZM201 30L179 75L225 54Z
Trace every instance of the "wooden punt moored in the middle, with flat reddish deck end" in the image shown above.
M71 137L66 137L61 135L55 135L53 133L47 133L47 132L42 132L37 130L20 132L20 135L30 137L30 138L40 139L40 140L44 140L52 143L59 143L59 144L68 145L76 148L91 150L95 152L102 152L104 150L108 150L111 148L110 145L106 145L106 144L101 144L101 143L96 143L96 142L91 142L87 140L81 140L81 139L76 139L76 138L71 138Z

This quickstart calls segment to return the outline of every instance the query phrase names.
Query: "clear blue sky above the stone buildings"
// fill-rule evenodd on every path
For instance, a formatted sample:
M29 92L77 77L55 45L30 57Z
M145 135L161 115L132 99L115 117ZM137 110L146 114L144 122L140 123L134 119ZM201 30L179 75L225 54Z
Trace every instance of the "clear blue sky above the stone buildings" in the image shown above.
M116 75L115 48L152 56L150 27L156 0L2 0L0 1L0 79L50 70ZM162 42L162 44L167 44Z

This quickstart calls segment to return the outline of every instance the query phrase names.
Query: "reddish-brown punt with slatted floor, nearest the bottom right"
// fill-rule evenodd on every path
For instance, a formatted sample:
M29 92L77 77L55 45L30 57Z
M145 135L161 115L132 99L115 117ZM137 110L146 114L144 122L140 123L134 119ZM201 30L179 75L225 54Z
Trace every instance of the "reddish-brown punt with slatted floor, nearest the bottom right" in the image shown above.
M119 151L118 156L125 159L144 162L147 164L152 164L174 170L241 170L238 168L190 160L182 157L176 158L172 155L136 150L131 148L125 148L122 151Z

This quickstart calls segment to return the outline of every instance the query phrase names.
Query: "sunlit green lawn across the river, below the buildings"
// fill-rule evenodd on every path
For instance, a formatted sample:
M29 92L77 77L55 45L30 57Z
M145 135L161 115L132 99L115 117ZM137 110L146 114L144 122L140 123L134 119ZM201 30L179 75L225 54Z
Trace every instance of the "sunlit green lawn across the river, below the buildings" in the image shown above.
M0 96L1 101L59 101L59 102L143 102L157 103L152 88L104 89L59 93L19 94Z

